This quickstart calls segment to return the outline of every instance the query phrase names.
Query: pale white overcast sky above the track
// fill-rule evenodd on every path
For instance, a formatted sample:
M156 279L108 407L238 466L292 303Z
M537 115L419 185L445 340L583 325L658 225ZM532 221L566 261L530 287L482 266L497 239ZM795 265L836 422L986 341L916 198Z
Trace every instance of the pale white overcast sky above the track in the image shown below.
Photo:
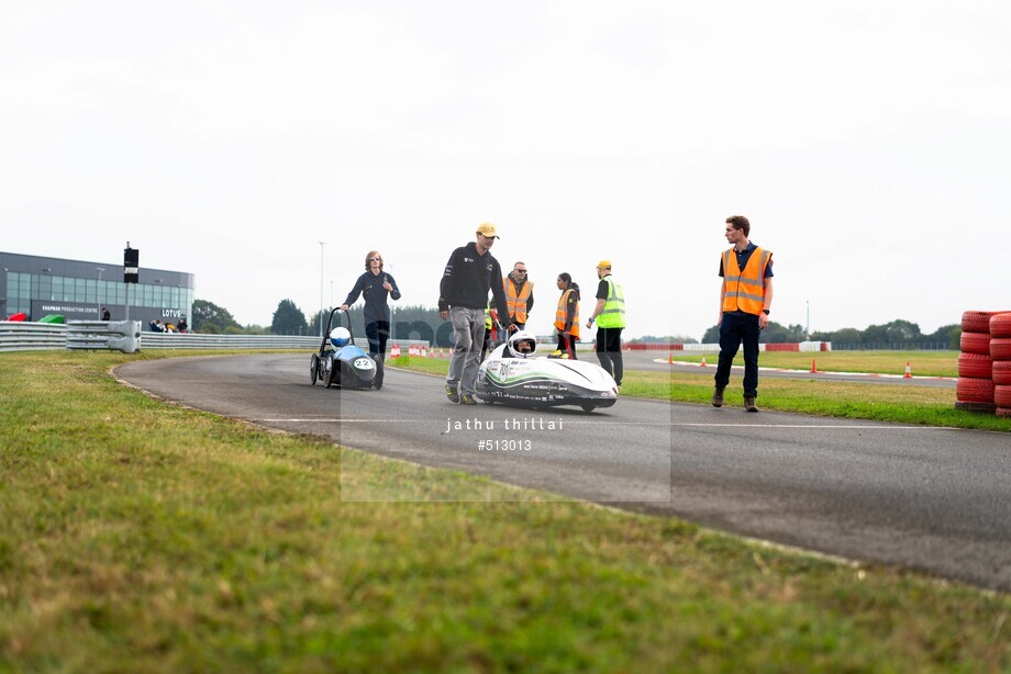
M371 248L434 306L490 221L538 333L557 274L587 312L608 258L631 336L699 338L742 213L774 321L933 332L1011 308L1009 7L5 2L0 249L130 240L269 325L343 301Z

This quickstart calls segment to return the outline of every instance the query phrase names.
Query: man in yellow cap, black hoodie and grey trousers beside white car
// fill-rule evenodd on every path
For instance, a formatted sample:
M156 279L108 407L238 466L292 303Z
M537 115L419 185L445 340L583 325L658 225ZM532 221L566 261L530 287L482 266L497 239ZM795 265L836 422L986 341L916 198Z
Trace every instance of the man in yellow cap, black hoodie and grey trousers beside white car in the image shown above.
M438 315L453 323L454 349L446 374L446 397L453 403L476 405L474 382L485 340L485 307L491 291L499 316L509 316L502 269L491 256L491 245L499 238L495 225L477 228L477 240L453 251L438 285ZM510 322L510 332L515 324Z

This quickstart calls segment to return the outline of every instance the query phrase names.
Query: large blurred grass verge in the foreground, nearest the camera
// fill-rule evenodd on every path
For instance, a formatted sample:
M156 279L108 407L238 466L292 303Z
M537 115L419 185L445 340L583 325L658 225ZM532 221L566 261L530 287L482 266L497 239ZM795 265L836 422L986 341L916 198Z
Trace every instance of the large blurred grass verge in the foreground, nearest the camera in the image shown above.
M163 405L0 355L0 670L999 671L1011 597ZM366 488L490 503L343 503ZM437 495L436 495L437 496Z

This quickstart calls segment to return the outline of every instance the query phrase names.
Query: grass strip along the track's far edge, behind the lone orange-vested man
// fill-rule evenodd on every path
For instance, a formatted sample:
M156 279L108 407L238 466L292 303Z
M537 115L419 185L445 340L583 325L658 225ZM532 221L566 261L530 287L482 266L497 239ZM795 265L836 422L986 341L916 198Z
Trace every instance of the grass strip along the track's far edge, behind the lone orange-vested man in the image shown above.
M387 362L393 367L442 375L448 367L447 360L437 358L404 356ZM622 395L708 405L713 372L713 368L699 374L626 370ZM732 379L731 383L740 386L740 381ZM726 400L730 405L743 402L740 389L734 391L729 387ZM765 377L760 380L758 404L765 409L816 416L1011 431L1011 418L955 409L954 389Z

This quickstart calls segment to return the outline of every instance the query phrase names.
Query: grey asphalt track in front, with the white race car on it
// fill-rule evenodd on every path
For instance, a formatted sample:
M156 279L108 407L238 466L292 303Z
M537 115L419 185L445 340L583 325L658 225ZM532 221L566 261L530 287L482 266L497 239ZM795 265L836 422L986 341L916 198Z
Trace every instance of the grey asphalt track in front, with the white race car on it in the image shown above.
M1006 434L755 415L733 395L722 409L633 398L592 414L460 406L441 378L392 369L381 391L311 386L308 353L136 361L115 373L166 400L346 447L1011 591Z

